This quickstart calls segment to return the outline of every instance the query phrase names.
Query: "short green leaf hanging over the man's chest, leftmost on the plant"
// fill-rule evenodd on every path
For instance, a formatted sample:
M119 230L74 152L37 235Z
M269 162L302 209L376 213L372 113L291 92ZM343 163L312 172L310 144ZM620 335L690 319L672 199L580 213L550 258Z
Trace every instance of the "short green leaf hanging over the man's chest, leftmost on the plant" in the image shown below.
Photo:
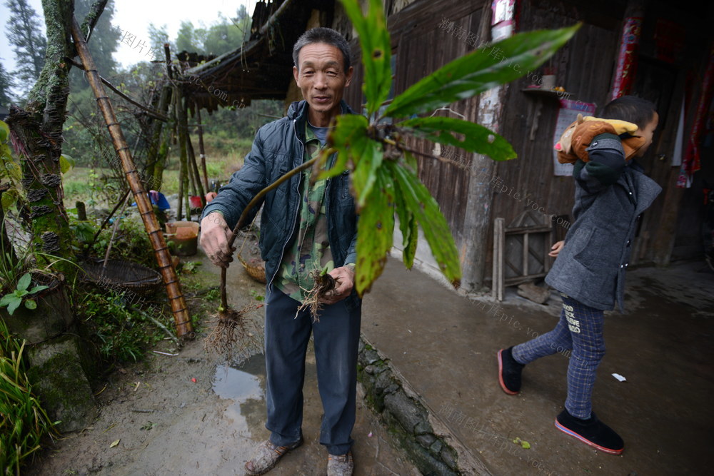
M333 128L328 136L328 142L331 144L331 147L323 148L322 156L318 161L320 168L325 165L328 157L331 156L334 151L337 151L337 158L332 168L327 171L322 171L318 175L318 180L334 177L343 173L343 171L348 168L351 156L356 156L356 160L359 161L360 156L352 154L350 148L351 144L355 142L361 143L362 147L364 146L361 141L367 136L367 126L367 118L364 116L358 114L343 114L342 116L337 116L335 128ZM351 164L350 168L354 168L354 163Z

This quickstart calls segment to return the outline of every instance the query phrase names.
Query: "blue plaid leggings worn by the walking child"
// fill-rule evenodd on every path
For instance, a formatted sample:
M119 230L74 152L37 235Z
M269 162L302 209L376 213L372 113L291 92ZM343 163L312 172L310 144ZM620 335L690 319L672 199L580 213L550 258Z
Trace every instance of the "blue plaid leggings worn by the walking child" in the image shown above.
M567 295L555 328L513 348L513 358L527 364L533 360L573 350L568 364L568 398L565 409L570 415L587 419L592 411L591 396L595 370L605 355L603 311L590 308Z

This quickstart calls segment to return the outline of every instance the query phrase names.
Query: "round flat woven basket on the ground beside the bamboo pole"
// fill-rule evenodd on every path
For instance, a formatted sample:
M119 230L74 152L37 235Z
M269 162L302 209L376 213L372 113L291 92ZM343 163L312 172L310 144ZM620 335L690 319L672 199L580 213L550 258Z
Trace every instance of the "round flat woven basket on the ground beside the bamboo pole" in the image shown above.
M81 264L84 279L104 288L120 288L137 294L148 294L156 290L163 280L151 268L124 260L109 260L104 268L104 260L95 258Z

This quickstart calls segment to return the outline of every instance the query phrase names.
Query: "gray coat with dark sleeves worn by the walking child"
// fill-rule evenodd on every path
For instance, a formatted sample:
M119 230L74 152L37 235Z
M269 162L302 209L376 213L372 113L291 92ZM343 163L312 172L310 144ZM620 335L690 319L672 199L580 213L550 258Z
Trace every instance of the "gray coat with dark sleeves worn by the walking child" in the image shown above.
M662 188L634 161L626 164L620 138L601 134L590 161L575 163L575 222L545 283L591 308L623 310L638 219Z

